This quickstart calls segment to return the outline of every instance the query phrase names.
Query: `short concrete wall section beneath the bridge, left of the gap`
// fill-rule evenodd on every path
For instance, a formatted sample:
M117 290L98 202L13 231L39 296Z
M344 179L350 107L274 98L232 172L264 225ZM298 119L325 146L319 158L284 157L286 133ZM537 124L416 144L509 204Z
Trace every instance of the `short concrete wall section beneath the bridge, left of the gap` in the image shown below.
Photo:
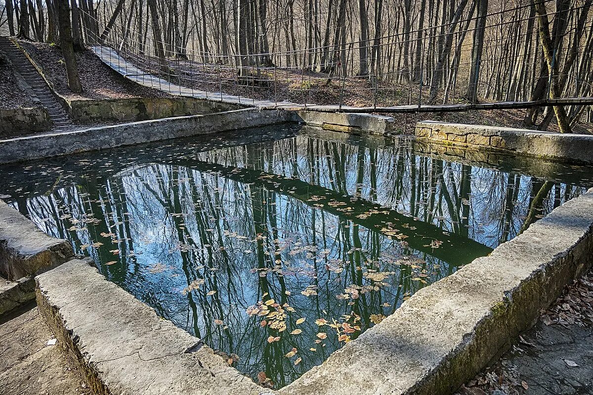
M294 122L304 122L307 125L320 126L323 129L336 132L357 132L387 134L394 132L392 117L373 114L357 113L321 113L315 111L295 111L292 113Z

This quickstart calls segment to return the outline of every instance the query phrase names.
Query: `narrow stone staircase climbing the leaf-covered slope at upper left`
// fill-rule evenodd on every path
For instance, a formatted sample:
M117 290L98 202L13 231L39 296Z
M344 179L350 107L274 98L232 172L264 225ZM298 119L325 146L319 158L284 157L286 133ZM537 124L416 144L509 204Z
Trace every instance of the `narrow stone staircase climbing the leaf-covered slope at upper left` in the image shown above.
M53 122L53 129L63 130L72 128L72 121L68 117L68 113L63 109L62 104L58 102L45 80L24 53L8 37L0 37L0 50L8 56L15 71L30 85L42 106L47 109L50 119Z

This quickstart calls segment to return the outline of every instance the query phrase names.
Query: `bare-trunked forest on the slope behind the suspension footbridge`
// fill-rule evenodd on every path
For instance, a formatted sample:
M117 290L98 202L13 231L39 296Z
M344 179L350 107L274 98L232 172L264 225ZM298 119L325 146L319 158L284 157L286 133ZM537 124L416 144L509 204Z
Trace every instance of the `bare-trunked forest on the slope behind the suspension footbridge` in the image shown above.
M2 33L59 42L52 0L11 0ZM196 89L394 106L590 97L593 0L71 0L74 50L106 45ZM67 4L66 4L67 5ZM533 107L569 131L590 107Z

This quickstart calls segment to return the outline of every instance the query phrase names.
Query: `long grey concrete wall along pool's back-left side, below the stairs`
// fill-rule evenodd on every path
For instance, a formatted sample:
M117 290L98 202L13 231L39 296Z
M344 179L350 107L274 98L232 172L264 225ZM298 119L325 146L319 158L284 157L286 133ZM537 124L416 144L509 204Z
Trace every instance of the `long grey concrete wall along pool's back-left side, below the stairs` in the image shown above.
M0 163L274 125L286 122L288 117L278 110L242 109L6 139L0 140Z

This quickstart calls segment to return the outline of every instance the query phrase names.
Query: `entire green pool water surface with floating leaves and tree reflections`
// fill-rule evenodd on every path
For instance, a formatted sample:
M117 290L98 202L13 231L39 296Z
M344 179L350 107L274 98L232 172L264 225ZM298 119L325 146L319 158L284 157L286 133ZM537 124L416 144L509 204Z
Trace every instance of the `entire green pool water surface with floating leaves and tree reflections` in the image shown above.
M0 198L279 388L593 185L437 151L276 126L4 166Z

